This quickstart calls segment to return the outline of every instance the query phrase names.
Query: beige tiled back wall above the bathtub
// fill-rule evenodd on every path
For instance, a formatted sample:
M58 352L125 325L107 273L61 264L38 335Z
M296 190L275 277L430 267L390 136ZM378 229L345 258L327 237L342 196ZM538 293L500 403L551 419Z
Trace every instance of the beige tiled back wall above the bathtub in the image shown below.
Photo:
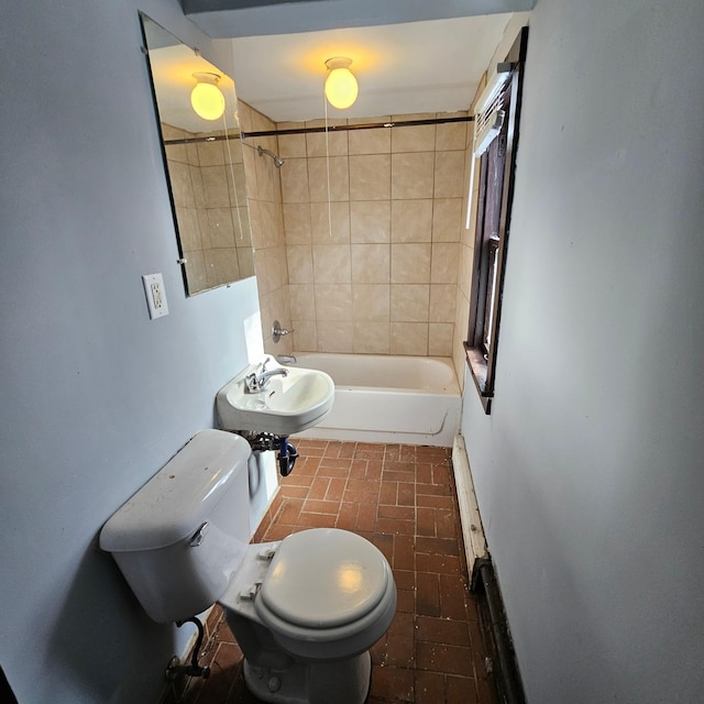
M451 116L366 122L436 117ZM332 132L327 145L324 133L278 136L286 160L280 199L296 350L452 354L468 124ZM256 217L254 210L253 231ZM280 268L282 261L271 265ZM258 248L256 266L258 278ZM285 310L283 300L280 306Z

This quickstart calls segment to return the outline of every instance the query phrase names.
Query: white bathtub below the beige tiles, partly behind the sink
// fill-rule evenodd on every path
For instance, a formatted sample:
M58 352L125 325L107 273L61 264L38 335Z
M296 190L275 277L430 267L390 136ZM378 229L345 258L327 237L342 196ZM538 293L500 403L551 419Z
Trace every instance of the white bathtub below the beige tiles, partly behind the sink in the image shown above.
M462 397L449 358L296 353L334 381L330 414L299 438L452 447Z

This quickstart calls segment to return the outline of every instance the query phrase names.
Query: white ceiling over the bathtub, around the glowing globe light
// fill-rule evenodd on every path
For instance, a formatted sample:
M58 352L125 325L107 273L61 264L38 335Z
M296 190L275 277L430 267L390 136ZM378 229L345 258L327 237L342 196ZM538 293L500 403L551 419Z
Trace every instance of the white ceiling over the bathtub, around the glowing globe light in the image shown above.
M326 59L346 56L360 96L330 118L466 110L510 13L231 40L238 97L276 122L324 117ZM223 67L228 70L227 67Z

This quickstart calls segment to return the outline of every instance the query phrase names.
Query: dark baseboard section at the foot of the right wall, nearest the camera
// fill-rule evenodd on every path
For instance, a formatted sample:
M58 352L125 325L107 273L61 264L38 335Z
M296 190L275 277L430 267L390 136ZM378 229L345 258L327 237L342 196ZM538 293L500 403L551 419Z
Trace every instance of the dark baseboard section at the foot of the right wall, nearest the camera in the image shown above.
M498 583L494 574L494 565L488 558L479 558L472 570L472 591L476 592L481 581L486 596L492 640L498 660L497 686L503 704L526 704L520 673L516 662L516 654L510 642L506 613L502 601Z

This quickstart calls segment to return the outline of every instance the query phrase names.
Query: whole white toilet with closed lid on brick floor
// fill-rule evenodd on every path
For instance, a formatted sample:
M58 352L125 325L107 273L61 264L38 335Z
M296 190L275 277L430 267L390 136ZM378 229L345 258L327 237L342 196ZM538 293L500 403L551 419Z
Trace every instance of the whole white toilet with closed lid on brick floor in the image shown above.
M156 622L219 603L256 697L362 704L369 648L396 610L389 564L337 528L250 544L249 457L242 437L200 431L108 520L100 547Z

